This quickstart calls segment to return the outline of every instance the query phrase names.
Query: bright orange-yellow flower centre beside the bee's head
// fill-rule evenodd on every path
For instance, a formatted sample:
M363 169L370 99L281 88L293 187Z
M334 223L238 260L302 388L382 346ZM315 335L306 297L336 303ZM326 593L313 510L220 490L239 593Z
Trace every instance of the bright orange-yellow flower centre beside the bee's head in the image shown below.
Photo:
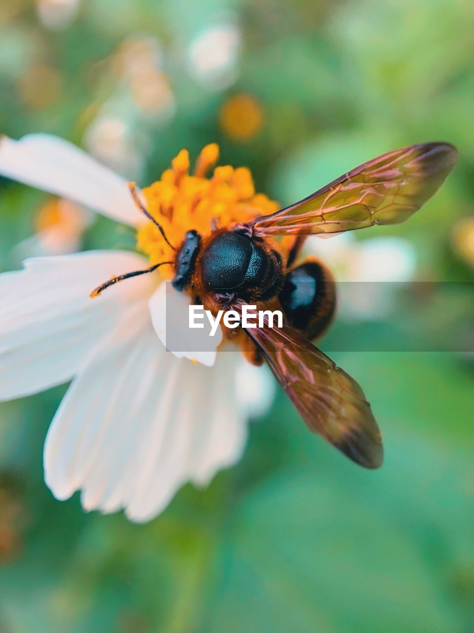
M190 175L188 151L182 149L171 161L173 169L143 189L147 209L159 222L167 239L179 248L189 230L205 237L212 230L238 222L250 222L258 215L277 211L278 205L264 194L255 194L252 174L246 167L216 167L206 178L219 157L219 146L211 143L199 154L194 175ZM147 254L150 265L174 260L176 253L164 241L159 229L144 221L137 232L137 248ZM172 266L163 266L164 279L173 276Z

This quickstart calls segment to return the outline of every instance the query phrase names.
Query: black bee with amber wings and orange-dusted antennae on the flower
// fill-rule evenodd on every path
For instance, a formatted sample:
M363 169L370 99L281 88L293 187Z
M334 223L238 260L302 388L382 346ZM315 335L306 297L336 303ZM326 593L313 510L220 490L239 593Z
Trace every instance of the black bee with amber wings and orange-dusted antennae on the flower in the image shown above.
M310 235L404 222L441 187L456 156L456 149L444 142L404 147L363 163L276 213L214 227L208 235L189 230L178 248L169 244L131 185L135 203L176 256L113 277L92 294L168 264L174 266L174 289L187 292L211 311L223 306L241 313L244 304L259 310L279 308L283 327L240 326L229 330L229 337L243 337L248 360L257 365L267 362L310 430L362 467L378 468L383 461L382 437L370 404L355 380L312 342L334 316L334 279L321 261L298 260ZM276 239L281 236L291 241L289 248Z

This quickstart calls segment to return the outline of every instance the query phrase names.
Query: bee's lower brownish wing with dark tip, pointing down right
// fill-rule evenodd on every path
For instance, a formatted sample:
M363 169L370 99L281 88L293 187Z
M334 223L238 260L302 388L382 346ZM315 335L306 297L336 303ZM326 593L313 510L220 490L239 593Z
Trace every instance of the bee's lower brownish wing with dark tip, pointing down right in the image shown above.
M355 380L288 325L245 332L313 432L365 468L382 465L380 430Z

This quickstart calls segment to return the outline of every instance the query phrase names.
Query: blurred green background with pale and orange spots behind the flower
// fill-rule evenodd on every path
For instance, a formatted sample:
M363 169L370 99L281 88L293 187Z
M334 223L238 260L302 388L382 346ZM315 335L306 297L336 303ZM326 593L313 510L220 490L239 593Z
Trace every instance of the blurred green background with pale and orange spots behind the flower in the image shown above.
M0 130L62 135L142 185L217 141L281 203L384 151L450 141L459 163L439 194L349 251L396 236L411 279L469 282L473 32L471 0L3 0ZM44 248L51 197L0 186L9 270ZM104 218L73 238L65 249L133 248ZM410 332L405 310L391 316ZM427 316L472 327L466 301ZM361 348L376 326L358 322ZM472 354L332 356L372 403L380 471L312 436L280 393L238 465L147 525L52 498L42 444L65 387L2 404L0 632L472 632Z

